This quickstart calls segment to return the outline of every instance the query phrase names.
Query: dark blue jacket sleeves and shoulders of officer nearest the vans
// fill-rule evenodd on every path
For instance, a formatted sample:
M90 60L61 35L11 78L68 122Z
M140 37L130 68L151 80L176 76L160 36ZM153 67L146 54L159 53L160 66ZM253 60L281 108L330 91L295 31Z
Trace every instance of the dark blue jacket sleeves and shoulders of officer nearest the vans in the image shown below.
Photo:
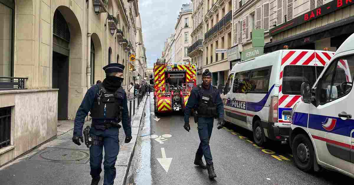
M199 86L199 85L198 85ZM185 106L184 110L184 122L189 123L189 115L190 115L190 110L193 109L195 105L197 107L199 106L199 99L201 98L201 91L199 90L199 87L196 86L192 89L190 92L190 96L188 98L187 105ZM203 86L201 88L204 88ZM216 88L213 87L212 85L209 86L209 89L204 89L204 94L212 94L213 96L213 103L216 105L217 113L219 119L224 119L224 104L222 103L222 99L220 97L220 94L216 90Z

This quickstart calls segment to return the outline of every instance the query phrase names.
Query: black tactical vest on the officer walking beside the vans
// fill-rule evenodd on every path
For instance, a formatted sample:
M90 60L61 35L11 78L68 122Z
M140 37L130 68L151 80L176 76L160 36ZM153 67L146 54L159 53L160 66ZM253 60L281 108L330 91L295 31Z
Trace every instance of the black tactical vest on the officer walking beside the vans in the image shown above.
M199 91L201 93L200 98L199 98L199 111L198 115L202 117L216 117L217 116L217 111L216 111L216 106L213 103L213 94L205 93L203 90L203 87L201 85L198 85ZM213 88L215 90L215 87ZM212 93L213 91L211 91Z

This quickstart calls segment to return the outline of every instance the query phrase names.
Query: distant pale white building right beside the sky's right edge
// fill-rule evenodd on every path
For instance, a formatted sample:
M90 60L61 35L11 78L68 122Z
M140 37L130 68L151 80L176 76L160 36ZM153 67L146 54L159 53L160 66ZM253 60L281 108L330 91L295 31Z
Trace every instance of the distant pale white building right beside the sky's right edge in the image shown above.
M188 57L188 47L192 42L192 4L183 4L175 25L175 61L191 60Z

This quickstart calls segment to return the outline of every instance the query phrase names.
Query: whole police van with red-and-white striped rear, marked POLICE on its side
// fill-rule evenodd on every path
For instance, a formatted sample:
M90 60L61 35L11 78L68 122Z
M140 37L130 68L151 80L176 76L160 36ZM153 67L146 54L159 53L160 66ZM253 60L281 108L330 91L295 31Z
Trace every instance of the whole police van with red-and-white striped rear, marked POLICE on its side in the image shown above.
M221 95L225 121L253 131L261 146L267 138L287 143L290 113L300 100L303 82L314 84L334 52L320 50L274 51L232 68Z

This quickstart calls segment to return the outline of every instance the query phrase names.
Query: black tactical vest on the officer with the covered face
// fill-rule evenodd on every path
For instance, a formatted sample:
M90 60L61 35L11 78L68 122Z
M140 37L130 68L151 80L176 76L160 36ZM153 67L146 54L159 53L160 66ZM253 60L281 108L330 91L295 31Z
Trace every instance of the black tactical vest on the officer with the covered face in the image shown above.
M122 120L124 89L119 87L116 92L108 91L103 84L97 84L98 93L91 109L92 120L119 123Z

